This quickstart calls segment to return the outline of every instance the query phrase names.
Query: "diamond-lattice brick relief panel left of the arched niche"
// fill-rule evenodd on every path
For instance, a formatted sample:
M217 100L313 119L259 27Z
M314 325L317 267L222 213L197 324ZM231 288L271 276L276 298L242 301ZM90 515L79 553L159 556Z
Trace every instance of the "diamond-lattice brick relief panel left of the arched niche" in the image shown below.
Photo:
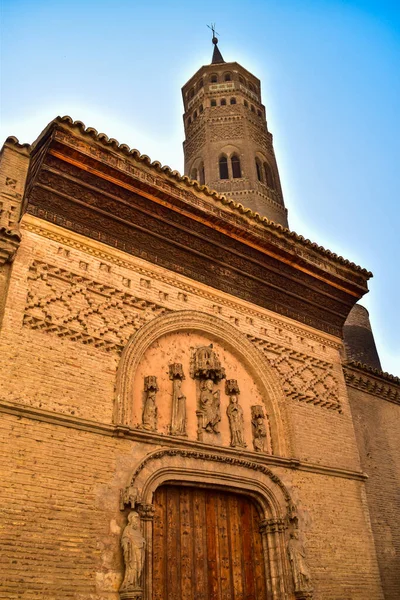
M120 353L130 336L168 309L111 285L35 260L24 326Z

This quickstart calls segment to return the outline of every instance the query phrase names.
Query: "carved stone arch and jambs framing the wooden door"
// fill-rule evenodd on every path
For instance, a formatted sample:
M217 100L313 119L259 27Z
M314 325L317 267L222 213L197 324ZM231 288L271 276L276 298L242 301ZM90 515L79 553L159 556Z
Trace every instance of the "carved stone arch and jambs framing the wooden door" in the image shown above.
M311 598L295 593L288 562L290 531L297 527L296 509L282 481L265 465L218 452L165 448L149 453L121 492L121 509L130 506L142 521L146 560L140 598L152 598L153 498L162 485L204 486L250 497L260 510L260 533L271 600ZM130 596L121 596L121 598ZM137 596L139 598L139 596Z

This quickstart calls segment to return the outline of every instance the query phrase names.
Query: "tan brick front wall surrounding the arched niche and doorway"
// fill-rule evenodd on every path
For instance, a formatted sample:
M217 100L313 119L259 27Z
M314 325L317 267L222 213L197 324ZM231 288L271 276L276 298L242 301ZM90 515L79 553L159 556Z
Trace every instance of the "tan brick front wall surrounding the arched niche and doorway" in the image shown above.
M92 429L111 424L122 349L132 333L168 311L212 313L247 335L285 390L294 457L359 470L339 340L43 227L43 235L33 227L23 231L0 334L7 373L0 398L0 598L117 600L125 524L119 491L155 446L111 437L111 427L96 435L72 421L69 427L49 421L56 413L90 420ZM363 482L276 471L299 505L315 599L380 600Z

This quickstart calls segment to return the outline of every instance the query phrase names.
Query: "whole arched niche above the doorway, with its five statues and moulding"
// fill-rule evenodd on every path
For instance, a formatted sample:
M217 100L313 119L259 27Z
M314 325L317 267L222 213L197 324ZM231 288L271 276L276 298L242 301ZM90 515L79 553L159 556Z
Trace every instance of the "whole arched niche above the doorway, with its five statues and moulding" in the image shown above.
M292 455L273 368L235 327L202 312L160 316L131 337L118 367L114 418L188 441Z

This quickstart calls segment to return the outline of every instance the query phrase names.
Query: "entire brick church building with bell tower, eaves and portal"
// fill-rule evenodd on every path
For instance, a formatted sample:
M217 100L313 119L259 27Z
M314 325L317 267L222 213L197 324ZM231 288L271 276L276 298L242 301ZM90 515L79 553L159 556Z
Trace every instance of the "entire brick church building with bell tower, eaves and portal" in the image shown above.
M214 46L185 176L69 117L4 144L2 598L400 593L371 273L288 229L260 82Z

